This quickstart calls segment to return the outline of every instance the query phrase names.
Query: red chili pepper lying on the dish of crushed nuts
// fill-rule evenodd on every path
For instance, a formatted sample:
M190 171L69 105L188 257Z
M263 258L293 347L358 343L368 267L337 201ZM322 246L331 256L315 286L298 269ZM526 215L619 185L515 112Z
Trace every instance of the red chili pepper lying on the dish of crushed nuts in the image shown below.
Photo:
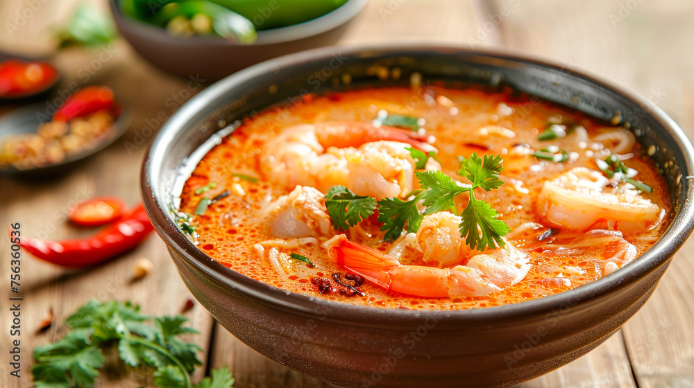
M71 94L53 114L53 121L70 121L100 110L110 110L117 116L119 109L110 87L90 86Z

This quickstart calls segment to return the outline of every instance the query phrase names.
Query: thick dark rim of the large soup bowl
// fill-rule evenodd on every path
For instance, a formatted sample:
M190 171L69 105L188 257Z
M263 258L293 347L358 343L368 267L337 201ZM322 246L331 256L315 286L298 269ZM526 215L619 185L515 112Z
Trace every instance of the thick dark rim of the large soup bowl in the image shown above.
M639 107L648 107L646 114L652 116L672 136L672 140L677 144L678 152L682 153L682 174L681 191L679 193L678 206L676 213L670 221L668 229L661 238L650 247L646 252L634 259L629 265L620 270L602 277L586 285L579 286L572 290L560 292L559 294L512 303L509 305L493 306L485 308L473 308L464 310L403 310L396 308L380 308L373 306L352 305L339 301L310 297L305 294L289 292L260 281L255 281L248 276L224 267L210 256L198 249L167 217L167 206L162 198L153 191L153 187L158 187L156 179L162 170L164 160L164 148L173 141L176 132L181 128L186 128L190 123L199 120L198 112L208 104L208 101L220 98L228 89L231 89L239 82L263 76L266 73L276 71L278 68L291 67L307 62L316 62L323 58L330 58L335 50L342 50L342 55L396 55L403 54L403 51L415 54L423 53L465 53L468 55L483 55L489 58L498 58L513 62L523 62L535 64L540 67L550 68L569 73L570 76L582 78L591 82L595 87L600 87L623 96L630 102ZM405 54L406 55L406 54ZM187 129L189 130L189 129ZM169 249L175 250L180 258L189 267L200 272L209 281L217 283L223 288L232 288L237 292L246 294L247 297L260 301L264 305L277 310L284 310L298 315L315 317L320 315L321 320L349 322L350 324L375 325L377 322L388 322L390 327L405 327L407 321L413 319L437 319L446 321L449 324L473 324L475 322L496 321L500 324L512 317L535 315L542 312L561 311L566 306L575 306L577 303L591 301L601 295L607 294L624 285L630 285L634 281L647 276L662 265L666 265L672 255L682 247L686 238L694 228L694 204L686 200L694 195L694 185L690 179L694 179L694 148L682 131L682 129L661 109L656 107L649 100L636 94L625 87L613 85L611 82L593 76L586 71L566 69L565 66L552 60L536 58L525 53L518 53L507 49L495 48L470 48L455 44L421 44L421 42L404 44L380 44L364 46L328 46L316 48L299 53L283 55L278 58L266 60L248 67L237 73L233 73L222 80L214 83L210 87L201 91L187 103L181 106L169 120L162 125L158 134L149 144L142 163L141 174L141 195L142 202L149 215L149 218L157 232L160 234ZM154 178L153 178L154 177ZM162 190L160 188L160 190ZM176 259L174 258L174 261ZM407 326L410 327L410 326Z

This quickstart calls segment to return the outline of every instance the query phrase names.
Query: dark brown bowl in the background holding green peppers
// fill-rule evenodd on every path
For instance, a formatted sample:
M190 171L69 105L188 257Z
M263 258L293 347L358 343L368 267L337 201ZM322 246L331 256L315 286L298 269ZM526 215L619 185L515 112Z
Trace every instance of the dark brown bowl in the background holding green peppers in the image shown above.
M270 58L335 44L349 21L368 0L349 0L327 14L282 28L258 31L255 44L235 44L221 37L174 37L167 30L124 15L110 0L116 25L135 51L156 67L182 77L215 81Z

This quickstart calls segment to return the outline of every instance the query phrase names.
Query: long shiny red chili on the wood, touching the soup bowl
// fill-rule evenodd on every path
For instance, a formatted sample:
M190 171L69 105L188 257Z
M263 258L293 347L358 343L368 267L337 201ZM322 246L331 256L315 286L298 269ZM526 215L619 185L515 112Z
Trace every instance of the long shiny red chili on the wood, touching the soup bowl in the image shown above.
M26 252L64 267L89 267L135 248L154 228L142 204L94 236L78 240L49 241L23 238Z

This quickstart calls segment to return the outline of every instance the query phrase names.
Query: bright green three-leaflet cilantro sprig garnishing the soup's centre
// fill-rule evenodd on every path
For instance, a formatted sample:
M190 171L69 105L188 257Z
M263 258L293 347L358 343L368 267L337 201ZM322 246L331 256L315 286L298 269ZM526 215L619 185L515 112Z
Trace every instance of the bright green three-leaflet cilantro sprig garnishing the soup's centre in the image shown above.
M503 159L500 155L492 157L484 155L484 159L473 154L468 159L459 158L460 169L457 175L466 177L471 184L463 184L441 171L418 171L415 175L419 184L426 191L423 192L423 205L425 214L437 213L455 209L455 197L462 193L468 193L468 204L461 213L461 222L458 225L460 235L465 237L465 243L471 249L483 251L487 247L503 247L506 236L511 229L502 220L498 220L499 213L488 203L475 197L475 188L484 191L496 190L504 182L499 179L499 174L504 169Z

